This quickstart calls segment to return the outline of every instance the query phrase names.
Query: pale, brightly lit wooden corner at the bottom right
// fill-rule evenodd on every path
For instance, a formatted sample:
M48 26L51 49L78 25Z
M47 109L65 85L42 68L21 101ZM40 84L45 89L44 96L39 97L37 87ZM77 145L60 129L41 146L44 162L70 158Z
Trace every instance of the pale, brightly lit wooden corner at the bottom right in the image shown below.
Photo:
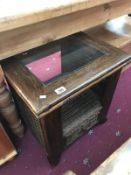
M131 138L118 148L90 175L128 175L131 174Z

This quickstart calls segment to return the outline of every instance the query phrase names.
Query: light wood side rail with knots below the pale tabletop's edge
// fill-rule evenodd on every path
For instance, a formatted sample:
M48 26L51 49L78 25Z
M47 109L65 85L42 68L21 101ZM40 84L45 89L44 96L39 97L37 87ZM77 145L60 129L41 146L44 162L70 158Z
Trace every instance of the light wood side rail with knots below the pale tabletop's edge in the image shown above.
M61 16L27 27L0 33L0 60L85 30L131 11L130 0Z

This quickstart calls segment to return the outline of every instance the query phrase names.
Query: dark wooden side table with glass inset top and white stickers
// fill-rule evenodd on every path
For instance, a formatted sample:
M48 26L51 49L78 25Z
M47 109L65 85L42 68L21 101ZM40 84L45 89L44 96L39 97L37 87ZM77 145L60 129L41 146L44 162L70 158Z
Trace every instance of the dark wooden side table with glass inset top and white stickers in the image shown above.
M57 66L53 67L55 61ZM43 62L47 67L42 67L41 77L36 74L36 65L42 66ZM84 33L3 62L18 109L46 147L52 165L59 162L62 151L80 135L106 121L121 68L129 62L127 53ZM55 76L52 70L56 70Z

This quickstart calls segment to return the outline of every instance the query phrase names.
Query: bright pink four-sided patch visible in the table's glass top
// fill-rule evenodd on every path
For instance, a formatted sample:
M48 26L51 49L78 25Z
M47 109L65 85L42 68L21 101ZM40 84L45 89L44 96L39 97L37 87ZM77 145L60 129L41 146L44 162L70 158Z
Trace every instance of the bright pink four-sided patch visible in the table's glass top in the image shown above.
M41 81L48 81L61 74L61 51L33 61L26 67Z

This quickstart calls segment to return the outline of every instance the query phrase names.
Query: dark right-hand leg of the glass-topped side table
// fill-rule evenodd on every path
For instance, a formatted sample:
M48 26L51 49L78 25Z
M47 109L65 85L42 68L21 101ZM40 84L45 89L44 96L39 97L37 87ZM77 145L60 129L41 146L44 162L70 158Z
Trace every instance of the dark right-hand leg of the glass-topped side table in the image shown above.
M102 110L99 114L99 123L104 123L107 119L107 113L109 111L110 108L110 104L112 102L112 98L118 83L118 80L120 78L121 75L121 70L118 70L117 72L115 72L113 75L111 75L109 78L107 78L107 82L106 82L106 87L104 89L104 93L103 93L103 98L102 98Z

